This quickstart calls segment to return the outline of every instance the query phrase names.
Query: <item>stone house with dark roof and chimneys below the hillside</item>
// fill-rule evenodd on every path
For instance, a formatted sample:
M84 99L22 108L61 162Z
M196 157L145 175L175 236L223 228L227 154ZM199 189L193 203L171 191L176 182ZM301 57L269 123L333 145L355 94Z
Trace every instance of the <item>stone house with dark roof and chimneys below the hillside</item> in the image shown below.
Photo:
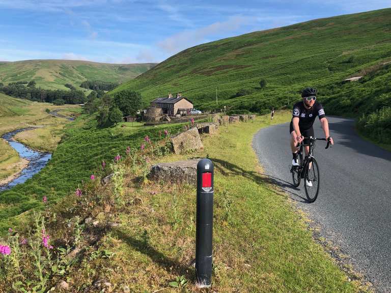
M176 97L169 94L167 97L156 98L151 102L151 107L161 108L163 114L172 117L194 108L193 103L187 98L182 97L181 93L178 93Z

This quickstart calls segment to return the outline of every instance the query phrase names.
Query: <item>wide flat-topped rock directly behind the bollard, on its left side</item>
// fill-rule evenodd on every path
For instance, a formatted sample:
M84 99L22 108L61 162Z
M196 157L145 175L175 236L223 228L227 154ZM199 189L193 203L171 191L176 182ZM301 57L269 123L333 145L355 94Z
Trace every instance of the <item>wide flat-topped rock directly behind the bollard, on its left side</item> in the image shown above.
M197 185L197 164L200 159L153 165L148 179L164 183Z

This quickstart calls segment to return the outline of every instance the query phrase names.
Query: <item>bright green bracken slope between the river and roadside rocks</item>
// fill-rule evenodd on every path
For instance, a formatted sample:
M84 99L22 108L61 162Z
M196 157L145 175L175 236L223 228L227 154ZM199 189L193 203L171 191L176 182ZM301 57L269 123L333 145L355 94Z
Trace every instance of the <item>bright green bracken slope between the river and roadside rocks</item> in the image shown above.
M86 122L87 121L87 122ZM51 160L38 174L10 191L0 193L0 233L10 225L17 225L17 216L25 211L42 207L42 197L52 202L74 192L82 180L98 171L102 160L113 161L117 154L124 155L129 146L138 149L144 137L154 139L159 131L179 131L182 125L144 127L131 123L126 128L97 128L94 116L80 116L64 130L62 140Z

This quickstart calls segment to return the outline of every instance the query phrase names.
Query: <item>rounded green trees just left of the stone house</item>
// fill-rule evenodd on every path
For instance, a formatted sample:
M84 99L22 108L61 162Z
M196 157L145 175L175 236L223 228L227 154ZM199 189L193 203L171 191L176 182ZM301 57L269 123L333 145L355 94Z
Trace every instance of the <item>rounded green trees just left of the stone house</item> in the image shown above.
M118 124L124 116L135 115L142 107L141 95L131 90L124 90L113 96L93 91L87 97L85 111L89 114L97 112L100 127Z

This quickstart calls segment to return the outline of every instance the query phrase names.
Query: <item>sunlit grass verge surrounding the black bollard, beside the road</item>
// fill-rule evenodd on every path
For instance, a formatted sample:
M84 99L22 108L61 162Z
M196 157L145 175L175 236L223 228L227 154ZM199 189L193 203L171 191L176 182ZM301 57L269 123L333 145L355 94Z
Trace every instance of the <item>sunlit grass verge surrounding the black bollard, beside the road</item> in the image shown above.
M289 112L281 113L272 124L289 119ZM89 233L95 233L99 240L94 246L83 246L83 260L67 271L70 290L81 292L102 278L114 291L127 285L131 292L366 292L365 284L343 273L314 242L305 217L287 196L270 189L260 175L251 144L254 134L270 123L267 115L255 122L220 127L217 134L203 137L204 150L151 158L155 163L208 156L214 163L210 289L195 287L194 268L189 265L195 248L195 188L141 185L135 179L142 167L136 164L134 168L129 157L123 161L127 172L122 203L99 208L95 200L111 194L114 185L101 187L99 182L88 181L81 187L85 195L80 200L70 194L45 213L53 225L47 225L52 239L60 238L63 243L73 237L67 223L73 223L76 216L91 216L102 224L120 223L99 232L86 226L82 237L87 240ZM88 212L80 208L90 204ZM54 214L56 219L50 216ZM186 286L171 287L169 283L179 276L188 281ZM54 277L50 282L58 280Z

